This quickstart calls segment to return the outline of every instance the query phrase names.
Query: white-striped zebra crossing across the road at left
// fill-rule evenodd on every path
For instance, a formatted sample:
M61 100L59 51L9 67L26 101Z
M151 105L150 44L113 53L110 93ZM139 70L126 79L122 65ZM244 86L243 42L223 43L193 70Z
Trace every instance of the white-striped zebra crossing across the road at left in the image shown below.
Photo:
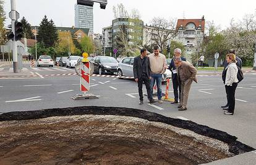
M14 69L13 67L0 67L0 72L13 72ZM56 71L61 71L61 72L68 72L72 71L74 72L74 69L69 69L66 67L23 67L22 71L28 72L28 71L49 71L49 72L56 72Z

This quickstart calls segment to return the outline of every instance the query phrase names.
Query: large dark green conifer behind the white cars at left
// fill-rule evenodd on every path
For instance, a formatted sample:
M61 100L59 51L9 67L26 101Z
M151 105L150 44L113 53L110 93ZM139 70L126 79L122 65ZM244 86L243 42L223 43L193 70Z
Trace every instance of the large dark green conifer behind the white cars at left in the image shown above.
M58 41L58 33L53 20L48 21L46 15L38 28L38 41L46 47L54 46Z

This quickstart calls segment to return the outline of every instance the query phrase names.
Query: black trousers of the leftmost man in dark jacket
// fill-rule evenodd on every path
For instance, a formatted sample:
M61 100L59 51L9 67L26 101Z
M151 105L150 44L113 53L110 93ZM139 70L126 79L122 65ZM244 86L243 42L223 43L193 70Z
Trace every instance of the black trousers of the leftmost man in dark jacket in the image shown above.
M151 90L150 90L150 79L147 77L147 75L142 75L142 77L140 77L138 81L140 101L143 101L143 92L142 92L143 82L146 85L148 99L149 100L153 99L151 96Z

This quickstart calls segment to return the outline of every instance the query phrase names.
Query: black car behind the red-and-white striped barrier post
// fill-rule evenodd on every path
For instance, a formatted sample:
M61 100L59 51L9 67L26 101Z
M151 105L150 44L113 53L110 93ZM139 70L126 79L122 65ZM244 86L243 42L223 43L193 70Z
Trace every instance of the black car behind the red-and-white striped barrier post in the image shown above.
M94 72L98 74L117 74L118 61L114 57L96 56L91 59Z

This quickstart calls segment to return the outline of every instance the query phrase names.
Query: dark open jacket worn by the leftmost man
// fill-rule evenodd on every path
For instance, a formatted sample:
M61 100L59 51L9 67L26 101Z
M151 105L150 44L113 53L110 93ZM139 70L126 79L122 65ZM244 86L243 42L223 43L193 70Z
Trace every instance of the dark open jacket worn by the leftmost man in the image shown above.
M151 77L151 70L150 70L150 60L148 57L145 58L145 66L146 66L146 74L148 77ZM142 77L142 62L140 60L140 56L134 58L134 78Z

